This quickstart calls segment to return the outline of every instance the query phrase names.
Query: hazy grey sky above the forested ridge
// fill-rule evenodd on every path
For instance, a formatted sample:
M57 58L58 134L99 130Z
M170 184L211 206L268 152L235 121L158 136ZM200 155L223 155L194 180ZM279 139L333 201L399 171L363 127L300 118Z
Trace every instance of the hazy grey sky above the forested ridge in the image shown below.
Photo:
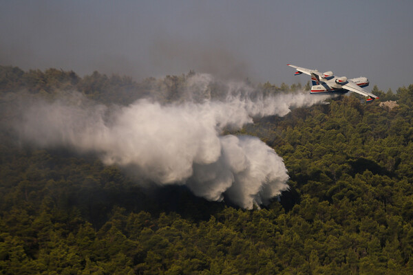
M0 65L83 76L222 77L305 84L292 63L413 83L413 1L4 1Z

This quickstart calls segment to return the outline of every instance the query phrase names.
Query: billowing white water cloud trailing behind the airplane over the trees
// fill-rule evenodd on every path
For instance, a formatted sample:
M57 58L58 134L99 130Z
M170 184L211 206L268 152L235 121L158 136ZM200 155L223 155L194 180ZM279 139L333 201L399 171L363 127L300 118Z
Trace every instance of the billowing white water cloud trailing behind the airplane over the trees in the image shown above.
M43 148L67 146L94 152L103 163L156 183L185 184L200 197L242 208L267 203L288 189L283 159L257 137L222 135L253 117L286 115L292 107L323 102L328 96L263 96L244 83L224 83L213 95L213 78L187 80L187 98L169 104L141 99L129 106L105 106L74 93L53 102L36 100L22 112L17 131ZM215 99L214 99L215 98ZM218 98L218 99L217 99Z

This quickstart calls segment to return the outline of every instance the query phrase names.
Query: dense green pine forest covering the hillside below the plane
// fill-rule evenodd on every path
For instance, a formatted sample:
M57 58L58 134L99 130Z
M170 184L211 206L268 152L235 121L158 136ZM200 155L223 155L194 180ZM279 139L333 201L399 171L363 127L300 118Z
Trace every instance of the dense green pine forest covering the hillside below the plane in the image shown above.
M8 131L14 94L173 102L191 74L137 82L0 66L0 274L413 274L413 85L228 129L259 137L288 169L290 189L253 210L147 188L92 154Z

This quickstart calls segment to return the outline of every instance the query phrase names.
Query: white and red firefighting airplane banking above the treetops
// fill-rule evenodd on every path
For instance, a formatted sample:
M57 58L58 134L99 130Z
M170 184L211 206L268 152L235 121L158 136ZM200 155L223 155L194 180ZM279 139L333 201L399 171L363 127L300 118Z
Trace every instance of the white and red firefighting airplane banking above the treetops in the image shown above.
M303 73L311 76L313 87L311 87L310 94L345 94L348 91L354 91L354 93L367 96L367 102L373 101L374 98L379 98L377 96L374 96L374 94L371 94L365 89L363 89L363 87L366 87L369 84L368 79L365 77L348 79L346 78L346 76L334 76L332 72L325 72L321 74L319 71L317 71L317 69L306 69L291 64L287 65L297 69L297 72L295 72L295 76L299 76Z

